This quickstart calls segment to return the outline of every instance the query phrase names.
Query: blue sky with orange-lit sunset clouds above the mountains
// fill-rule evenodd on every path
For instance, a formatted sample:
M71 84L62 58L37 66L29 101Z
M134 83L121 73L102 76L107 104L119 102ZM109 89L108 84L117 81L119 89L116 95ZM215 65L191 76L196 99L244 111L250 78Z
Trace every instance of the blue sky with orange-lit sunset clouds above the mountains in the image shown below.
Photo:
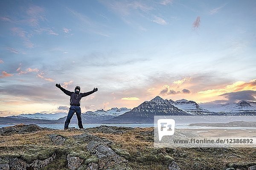
M256 101L255 0L1 0L0 116L81 111L155 96Z

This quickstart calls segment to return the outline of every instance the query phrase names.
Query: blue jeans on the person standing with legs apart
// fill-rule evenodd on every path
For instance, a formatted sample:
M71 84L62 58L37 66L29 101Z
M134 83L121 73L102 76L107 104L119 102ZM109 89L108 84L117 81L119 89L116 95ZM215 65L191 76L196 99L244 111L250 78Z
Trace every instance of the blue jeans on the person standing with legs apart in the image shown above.
M67 119L66 119L65 125L64 125L65 129L68 128L68 125L70 124L70 120L73 117L75 112L76 112L76 117L77 117L77 120L78 120L78 126L79 126L80 129L83 128L82 118L81 118L81 108L79 106L70 106L70 110L67 114Z

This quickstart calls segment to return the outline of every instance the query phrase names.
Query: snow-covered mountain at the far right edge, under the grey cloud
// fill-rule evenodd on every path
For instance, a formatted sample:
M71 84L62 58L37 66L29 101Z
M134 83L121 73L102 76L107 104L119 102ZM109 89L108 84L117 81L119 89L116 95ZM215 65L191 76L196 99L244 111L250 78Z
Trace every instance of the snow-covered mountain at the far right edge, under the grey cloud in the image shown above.
M256 102L241 100L240 102L230 102L205 106L209 111L221 114L256 114Z

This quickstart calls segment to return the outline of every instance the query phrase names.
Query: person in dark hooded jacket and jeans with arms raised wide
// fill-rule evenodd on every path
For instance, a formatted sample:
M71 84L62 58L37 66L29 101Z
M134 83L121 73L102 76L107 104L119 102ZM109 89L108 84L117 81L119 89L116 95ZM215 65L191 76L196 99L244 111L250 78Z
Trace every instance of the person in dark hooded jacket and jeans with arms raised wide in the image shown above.
M64 92L64 94L67 94L70 96L70 109L67 114L67 119L65 121L64 129L67 130L68 125L70 124L70 120L73 117L74 113L76 112L76 117L78 120L78 126L80 129L83 129L82 125L82 118L81 118L81 108L80 108L80 100L82 97L88 96L90 94L93 94L94 92L98 91L98 88L93 88L92 91L86 92L86 93L80 93L81 88L79 86L76 86L75 92L68 91L61 87L60 84L55 85L57 88L61 89L61 91Z

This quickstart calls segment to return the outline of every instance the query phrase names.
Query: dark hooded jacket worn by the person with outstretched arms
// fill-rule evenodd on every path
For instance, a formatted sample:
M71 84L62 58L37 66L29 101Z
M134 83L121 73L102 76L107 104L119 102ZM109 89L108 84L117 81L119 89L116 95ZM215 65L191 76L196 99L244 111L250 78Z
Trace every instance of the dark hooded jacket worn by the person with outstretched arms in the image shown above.
M61 91L64 92L64 94L67 94L68 96L70 96L70 105L80 106L80 100L81 100L82 97L85 97L85 96L88 96L88 95L94 93L94 91L89 91L89 92L86 92L86 93L80 93L80 87L76 86L76 88L79 89L78 94L76 94L73 91L68 91L68 90L64 89L63 87L60 88ZM76 91L76 88L75 88L75 91Z

